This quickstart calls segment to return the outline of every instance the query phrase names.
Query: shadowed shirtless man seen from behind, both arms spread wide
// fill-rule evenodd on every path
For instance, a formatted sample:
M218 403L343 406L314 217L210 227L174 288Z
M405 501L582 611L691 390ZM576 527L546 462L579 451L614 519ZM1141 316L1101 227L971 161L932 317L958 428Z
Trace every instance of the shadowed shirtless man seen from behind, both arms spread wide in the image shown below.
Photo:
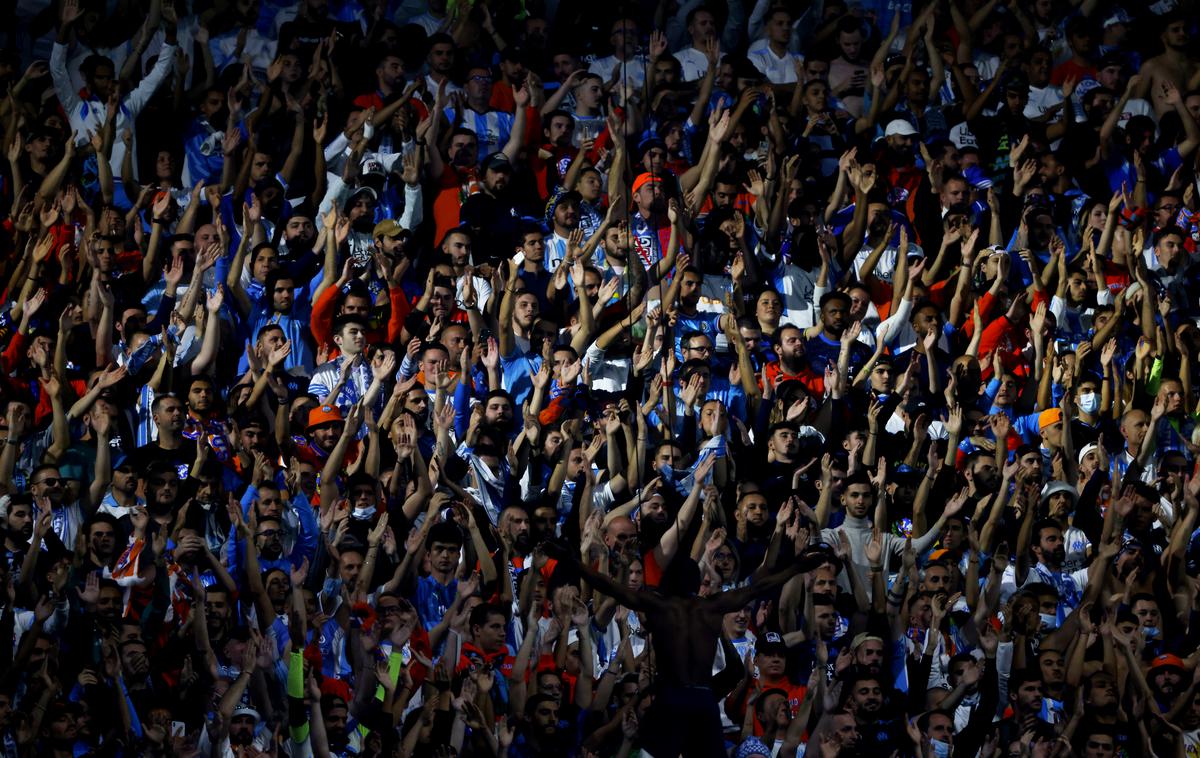
M700 568L690 560L674 561L659 588L634 591L624 582L614 582L580 565L574 554L568 555L596 591L616 598L630 610L646 614L661 687L650 706L653 712L644 717L652 727L642 730L646 751L652 756L718 758L725 756L725 750L712 680L716 639L725 614L744 608L754 597L782 586L802 571L814 570L828 553L808 551L782 571L748 586L707 597L696 594ZM688 728L664 729L662 724L688 724Z

